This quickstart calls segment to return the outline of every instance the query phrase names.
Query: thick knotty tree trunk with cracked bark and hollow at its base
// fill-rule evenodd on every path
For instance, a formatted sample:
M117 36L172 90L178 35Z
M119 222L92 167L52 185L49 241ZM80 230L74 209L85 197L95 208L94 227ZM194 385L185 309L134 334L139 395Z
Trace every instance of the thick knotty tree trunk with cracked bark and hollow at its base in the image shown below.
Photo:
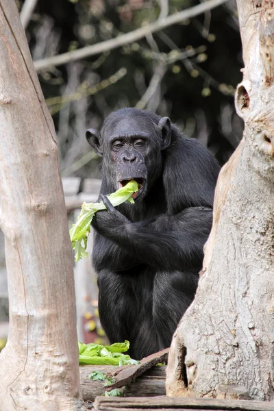
M195 300L173 336L168 395L274 400L274 5L238 0L238 149L216 187Z

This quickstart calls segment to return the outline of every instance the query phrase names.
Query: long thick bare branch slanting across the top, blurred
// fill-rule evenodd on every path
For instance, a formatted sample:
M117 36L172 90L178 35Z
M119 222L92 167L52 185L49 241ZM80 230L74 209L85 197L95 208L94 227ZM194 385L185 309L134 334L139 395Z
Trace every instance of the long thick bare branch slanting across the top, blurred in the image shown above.
M60 64L66 64L67 62L70 62L72 60L80 60L90 55L95 55L103 53L104 51L116 49L117 47L121 47L123 45L127 45L134 41L140 40L140 38L147 36L147 34L158 32L165 27L180 23L181 21L186 20L186 18L194 17L203 12L206 12L207 10L216 8L218 5L225 3L225 1L227 0L208 0L199 5L195 5L192 8L183 10L182 12L163 18L161 21L155 21L155 23L145 25L144 27L140 27L132 32L122 34L121 36L118 36L116 38L111 38L110 40L105 40L103 42L97 43L96 45L86 46L75 51L69 51L68 53L63 53L60 55L55 55L53 57L38 60L34 62L35 69L36 71L41 71L44 69L49 69L49 67L51 66L59 66Z

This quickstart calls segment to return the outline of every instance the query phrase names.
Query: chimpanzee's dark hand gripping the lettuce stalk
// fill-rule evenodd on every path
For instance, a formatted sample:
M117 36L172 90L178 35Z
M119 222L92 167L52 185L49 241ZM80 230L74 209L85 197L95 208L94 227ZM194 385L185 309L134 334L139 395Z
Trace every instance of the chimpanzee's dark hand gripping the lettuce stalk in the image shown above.
M108 197L104 194L100 196L107 210L98 211L92 219L91 225L102 236L112 238L117 233L121 233L125 225L131 222L112 206Z

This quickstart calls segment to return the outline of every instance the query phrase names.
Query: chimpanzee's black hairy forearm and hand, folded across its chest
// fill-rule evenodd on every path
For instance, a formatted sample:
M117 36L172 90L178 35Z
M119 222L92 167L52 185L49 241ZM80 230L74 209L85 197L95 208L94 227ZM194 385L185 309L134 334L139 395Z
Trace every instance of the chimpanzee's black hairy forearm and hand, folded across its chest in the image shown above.
M95 228L121 247L115 251L120 256L128 253L136 261L168 271L201 265L203 245L212 225L210 208L187 208L175 216L164 214L153 221L130 223L108 201L104 202L108 212L97 213ZM119 262L119 258L115 260Z

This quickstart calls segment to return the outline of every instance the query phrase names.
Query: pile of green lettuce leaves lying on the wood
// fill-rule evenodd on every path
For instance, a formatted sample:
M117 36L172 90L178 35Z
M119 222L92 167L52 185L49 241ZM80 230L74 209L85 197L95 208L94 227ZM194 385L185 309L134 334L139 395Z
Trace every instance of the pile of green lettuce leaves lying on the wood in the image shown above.
M78 341L79 364L88 365L126 365L138 364L127 354L123 354L129 349L129 341L125 343L115 343L112 345L99 345L95 343L83 344Z

